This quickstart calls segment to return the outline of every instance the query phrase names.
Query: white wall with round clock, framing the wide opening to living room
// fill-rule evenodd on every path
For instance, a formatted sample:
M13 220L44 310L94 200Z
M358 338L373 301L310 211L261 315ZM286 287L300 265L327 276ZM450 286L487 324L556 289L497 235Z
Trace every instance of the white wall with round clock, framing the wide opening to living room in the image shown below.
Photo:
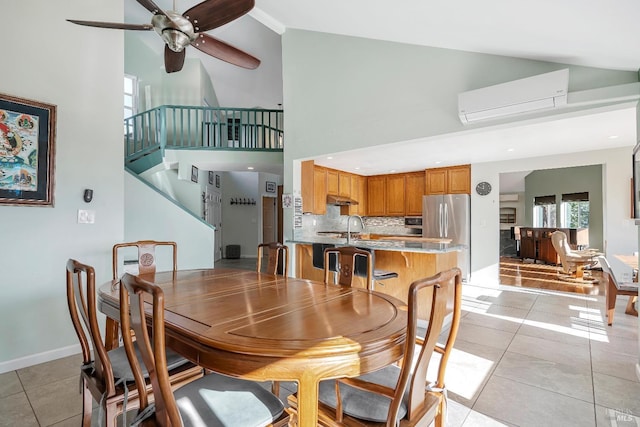
M471 167L471 182L487 181L492 186L500 182L500 173L532 169L552 169L567 166L603 166L603 237L605 251L614 269L614 254L637 251L637 232L629 218L631 178L631 148L590 151L566 155L543 156L508 162L476 163ZM499 197L497 192L488 196L471 195L471 270L472 283L493 285L499 274Z

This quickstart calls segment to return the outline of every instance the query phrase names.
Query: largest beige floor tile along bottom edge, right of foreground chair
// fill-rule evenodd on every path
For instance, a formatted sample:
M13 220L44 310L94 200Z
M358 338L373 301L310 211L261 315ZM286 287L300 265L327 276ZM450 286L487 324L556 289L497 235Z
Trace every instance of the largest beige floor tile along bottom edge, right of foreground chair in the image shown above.
M489 380L473 410L519 427L595 426L593 403L497 376Z

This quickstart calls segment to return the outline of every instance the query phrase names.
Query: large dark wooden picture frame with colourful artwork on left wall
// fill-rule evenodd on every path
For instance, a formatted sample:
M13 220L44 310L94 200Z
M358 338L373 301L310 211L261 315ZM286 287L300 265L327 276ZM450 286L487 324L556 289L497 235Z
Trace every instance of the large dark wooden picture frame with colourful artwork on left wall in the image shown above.
M56 110L0 93L0 205L53 207Z

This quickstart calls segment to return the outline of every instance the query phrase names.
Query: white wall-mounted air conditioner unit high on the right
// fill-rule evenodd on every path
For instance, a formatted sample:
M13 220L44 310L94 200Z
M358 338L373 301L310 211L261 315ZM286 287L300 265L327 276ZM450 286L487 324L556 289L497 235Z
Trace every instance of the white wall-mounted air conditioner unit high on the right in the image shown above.
M569 69L458 94L462 123L497 119L567 104Z

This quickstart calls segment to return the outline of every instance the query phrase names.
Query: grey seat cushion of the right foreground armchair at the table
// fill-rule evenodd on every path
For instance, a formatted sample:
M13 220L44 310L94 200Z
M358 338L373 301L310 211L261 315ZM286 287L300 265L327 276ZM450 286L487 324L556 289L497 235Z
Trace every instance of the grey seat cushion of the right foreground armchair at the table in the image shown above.
M390 365L369 374L361 375L358 378L364 381L395 388L400 375L400 368ZM407 414L408 391L398 410L398 419L402 419ZM340 384L340 395L342 397L342 410L345 414L359 418L361 420L373 422L385 422L389 412L391 400L376 393L360 390L347 384ZM318 400L332 408L337 406L335 380L321 381L319 386Z

